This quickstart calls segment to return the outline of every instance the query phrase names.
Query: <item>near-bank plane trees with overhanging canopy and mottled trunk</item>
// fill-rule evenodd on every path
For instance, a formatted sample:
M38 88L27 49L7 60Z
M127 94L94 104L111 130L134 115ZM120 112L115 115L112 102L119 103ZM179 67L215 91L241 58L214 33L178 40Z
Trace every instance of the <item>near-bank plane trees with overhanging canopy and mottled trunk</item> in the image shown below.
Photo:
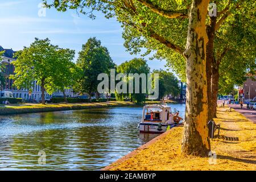
M106 18L115 16L124 28L127 50L147 48L146 53L154 51L155 57L166 59L187 81L182 151L208 155L207 122L216 116L220 74L233 80L255 71L255 1L214 1L217 7L210 9L209 0L43 2L59 11L78 9L94 17L93 10L98 10Z

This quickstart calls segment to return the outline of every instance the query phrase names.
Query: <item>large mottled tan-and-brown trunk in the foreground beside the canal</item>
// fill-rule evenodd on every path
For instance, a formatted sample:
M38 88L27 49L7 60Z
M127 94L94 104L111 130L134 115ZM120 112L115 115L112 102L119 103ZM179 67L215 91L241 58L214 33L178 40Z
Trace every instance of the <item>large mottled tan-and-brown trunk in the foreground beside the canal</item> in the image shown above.
M185 154L207 156L210 151L208 137L208 105L205 19L209 1L194 0L189 11L187 44L187 102L184 135L181 150Z

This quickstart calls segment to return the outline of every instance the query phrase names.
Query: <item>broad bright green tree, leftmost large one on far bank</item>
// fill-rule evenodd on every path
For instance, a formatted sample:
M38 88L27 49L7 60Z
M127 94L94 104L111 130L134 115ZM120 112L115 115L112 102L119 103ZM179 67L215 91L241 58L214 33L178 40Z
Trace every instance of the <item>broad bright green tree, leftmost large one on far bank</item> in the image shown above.
M48 38L35 38L30 47L15 53L17 59L12 62L15 75L10 75L14 85L18 89L31 89L32 82L37 81L42 89L42 104L45 104L44 92L52 94L56 90L55 81L59 79L60 59L63 58L59 57L60 52L61 49L53 46Z

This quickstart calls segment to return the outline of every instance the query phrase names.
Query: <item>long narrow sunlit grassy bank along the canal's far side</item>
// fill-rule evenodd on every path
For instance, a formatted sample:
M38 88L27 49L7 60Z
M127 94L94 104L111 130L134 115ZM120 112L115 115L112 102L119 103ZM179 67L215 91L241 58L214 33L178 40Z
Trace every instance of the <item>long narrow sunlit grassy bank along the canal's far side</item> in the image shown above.
M92 103L76 103L76 104L11 104L0 105L0 115L6 114L22 114L22 113L39 113L47 111L60 111L60 110L78 110L90 109L101 107L115 107L115 106L130 106L135 105L131 102L92 102Z

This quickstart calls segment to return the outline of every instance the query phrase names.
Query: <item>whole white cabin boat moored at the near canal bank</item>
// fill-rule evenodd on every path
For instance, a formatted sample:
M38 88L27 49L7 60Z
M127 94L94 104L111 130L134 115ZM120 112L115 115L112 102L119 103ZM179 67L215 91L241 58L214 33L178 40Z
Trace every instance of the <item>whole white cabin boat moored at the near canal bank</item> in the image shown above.
M168 126L176 126L170 106L158 104L143 107L142 120L138 125L139 132L164 133Z

